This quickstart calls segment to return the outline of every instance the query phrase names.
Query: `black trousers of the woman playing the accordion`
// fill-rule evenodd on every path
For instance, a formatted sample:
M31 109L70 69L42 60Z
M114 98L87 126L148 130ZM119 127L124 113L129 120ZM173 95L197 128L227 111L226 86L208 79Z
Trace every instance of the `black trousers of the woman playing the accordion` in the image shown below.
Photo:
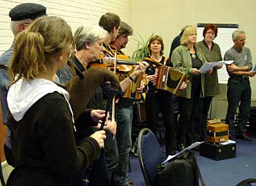
M158 108L160 109L165 125L166 154L174 154L176 152L176 125L173 122L172 94L161 90L155 94L147 94L145 104L147 108L147 124L154 134L156 134L158 123Z

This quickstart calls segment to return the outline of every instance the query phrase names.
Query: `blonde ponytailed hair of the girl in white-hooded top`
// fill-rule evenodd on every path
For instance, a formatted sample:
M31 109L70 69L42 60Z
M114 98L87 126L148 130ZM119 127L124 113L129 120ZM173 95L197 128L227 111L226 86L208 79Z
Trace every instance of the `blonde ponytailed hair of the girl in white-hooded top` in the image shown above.
M51 65L55 56L70 50L68 43L72 43L74 50L71 27L64 19L37 19L15 39L9 70L11 84L22 77L31 80L46 72L46 66Z

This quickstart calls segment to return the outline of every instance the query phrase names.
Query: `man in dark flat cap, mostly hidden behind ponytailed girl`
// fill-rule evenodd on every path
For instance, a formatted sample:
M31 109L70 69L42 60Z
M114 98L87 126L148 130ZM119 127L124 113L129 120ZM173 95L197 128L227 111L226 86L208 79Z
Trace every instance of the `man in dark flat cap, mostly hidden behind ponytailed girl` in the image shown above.
M36 3L21 3L15 8L12 8L9 12L9 17L11 18L10 28L12 33L16 37L19 32L25 30L30 23L32 23L38 17L42 17L46 15L46 7L36 4ZM8 90L6 86L10 83L10 79L8 76L8 66L10 65L10 58L13 53L13 43L6 52L0 56L0 98L1 98L1 111L3 117L3 124L6 123L7 117L6 114L8 112L7 105L7 93ZM6 68L5 68L6 67ZM6 143L4 145L4 151L6 154L6 161L9 165L13 165L12 163L12 152L10 150L10 130L7 131Z

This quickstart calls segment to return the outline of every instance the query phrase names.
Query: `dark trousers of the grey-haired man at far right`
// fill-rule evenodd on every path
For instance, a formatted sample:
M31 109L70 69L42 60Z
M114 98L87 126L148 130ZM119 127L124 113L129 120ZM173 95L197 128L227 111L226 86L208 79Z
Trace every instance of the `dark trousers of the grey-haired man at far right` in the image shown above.
M230 134L240 135L246 132L246 123L250 116L250 81L248 78L228 79L228 112L226 115L226 124L229 125ZM240 104L239 104L240 103ZM239 116L237 123L237 130L234 131L234 119L239 105Z

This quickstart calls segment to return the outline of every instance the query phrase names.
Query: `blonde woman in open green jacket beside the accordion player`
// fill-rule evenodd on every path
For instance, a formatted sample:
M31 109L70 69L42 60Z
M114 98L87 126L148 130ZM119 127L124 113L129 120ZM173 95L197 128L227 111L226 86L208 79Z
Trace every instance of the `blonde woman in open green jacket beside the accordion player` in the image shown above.
M181 37L181 45L172 54L174 68L188 74L186 90L178 97L179 123L177 127L177 149L182 150L194 143L194 123L198 116L199 97L204 94L204 74L199 68L206 61L203 52L195 47L196 28L188 25Z

